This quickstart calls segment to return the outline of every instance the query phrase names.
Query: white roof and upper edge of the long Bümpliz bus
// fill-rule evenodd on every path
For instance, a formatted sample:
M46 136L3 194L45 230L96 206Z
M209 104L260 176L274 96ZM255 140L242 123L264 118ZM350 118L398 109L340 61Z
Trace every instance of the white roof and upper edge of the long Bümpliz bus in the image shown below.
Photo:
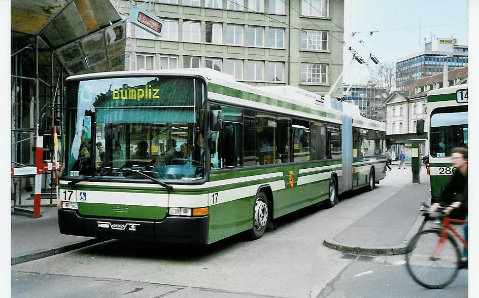
M251 106L251 102L262 106L267 110L275 110L284 113L286 109L295 110L295 115L303 117L312 117L341 123L341 115L348 114L353 118L353 125L362 128L372 128L377 130L386 130L384 122L368 119L360 115L359 107L349 102L339 102L335 98L309 92L307 90L293 86L267 86L256 87L234 80L230 74L216 71L210 68L178 68L161 70L131 70L131 71L110 71L88 74L79 74L68 77L66 80L88 80L101 79L112 76L157 76L160 74L182 74L197 75L204 78L208 83L209 97L223 102L231 102L231 99L240 98L248 100L250 103L238 104ZM211 93L211 94L210 94ZM238 97L238 94L241 94ZM286 103L286 104L285 104ZM281 107L281 106L286 106ZM291 113L289 113L291 114ZM323 115L324 117L318 116Z

